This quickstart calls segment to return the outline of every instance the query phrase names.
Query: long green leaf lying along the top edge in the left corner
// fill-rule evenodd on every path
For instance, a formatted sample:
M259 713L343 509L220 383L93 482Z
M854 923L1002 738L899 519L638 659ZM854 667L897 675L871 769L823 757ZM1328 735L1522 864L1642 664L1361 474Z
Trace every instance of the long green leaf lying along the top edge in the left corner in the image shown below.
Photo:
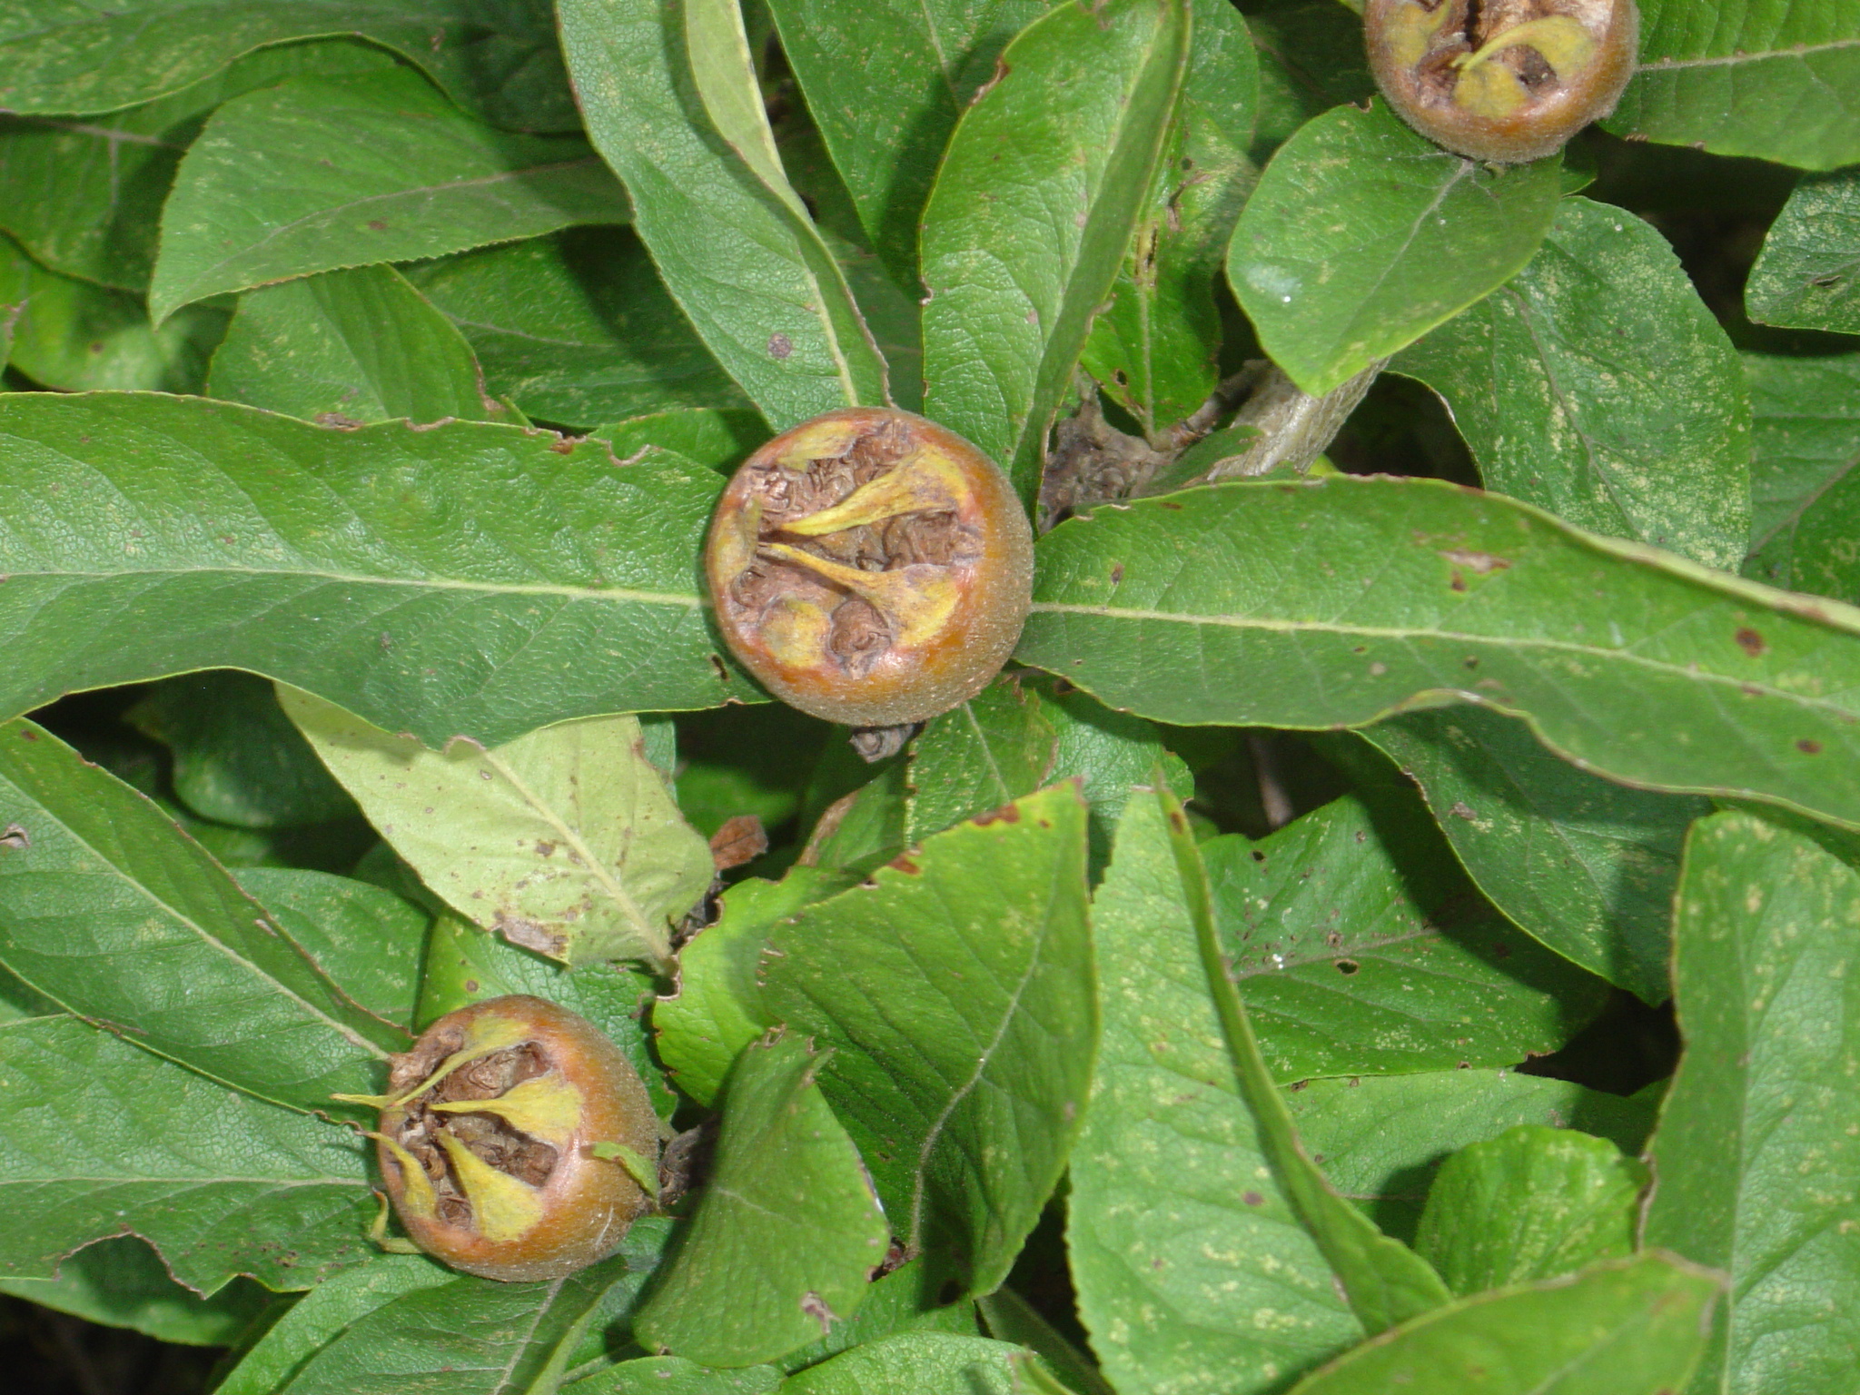
M0 108L115 112L180 91L266 45L370 39L456 100L523 130L573 130L549 9L536 0L17 0L0 17Z

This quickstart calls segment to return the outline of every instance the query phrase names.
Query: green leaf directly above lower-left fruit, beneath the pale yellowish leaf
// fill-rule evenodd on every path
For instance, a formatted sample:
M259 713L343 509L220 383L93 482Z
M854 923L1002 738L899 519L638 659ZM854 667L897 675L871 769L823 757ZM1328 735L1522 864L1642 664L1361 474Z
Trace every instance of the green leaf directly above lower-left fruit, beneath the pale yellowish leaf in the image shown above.
M642 1021L657 986L649 969L631 963L582 963L569 971L450 911L433 919L422 967L417 1027L426 1027L467 1003L484 1003L506 993L545 997L591 1021L619 1047L645 1083L645 1094L660 1118L670 1120L677 1109L679 1101L653 1058Z

